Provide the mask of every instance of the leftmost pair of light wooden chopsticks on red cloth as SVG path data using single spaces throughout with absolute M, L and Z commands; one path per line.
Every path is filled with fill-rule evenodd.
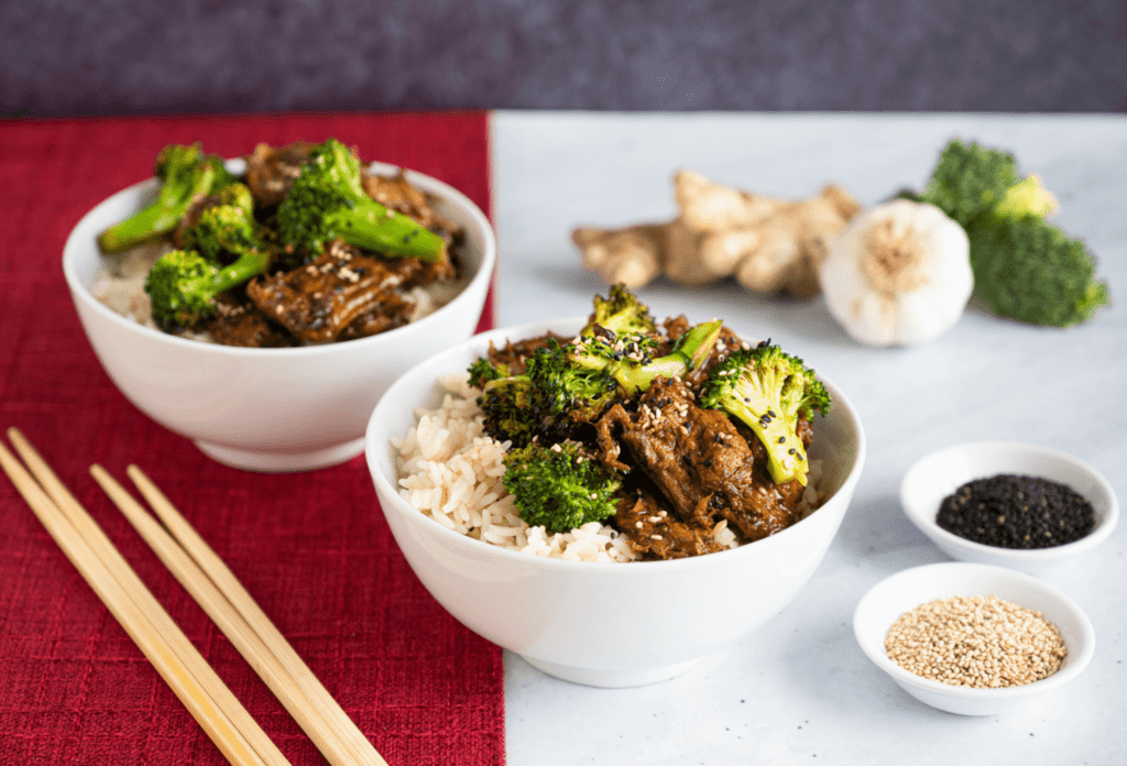
M 228 761 L 289 764 L 30 443 L 8 436 L 35 478 L 0 443 L 5 473 Z

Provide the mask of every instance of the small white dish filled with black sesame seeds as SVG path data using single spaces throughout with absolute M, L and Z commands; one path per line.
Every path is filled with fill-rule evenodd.
M 928 455 L 904 475 L 900 504 L 949 556 L 1032 573 L 1090 551 L 1119 520 L 1115 490 L 1094 467 L 1013 442 Z

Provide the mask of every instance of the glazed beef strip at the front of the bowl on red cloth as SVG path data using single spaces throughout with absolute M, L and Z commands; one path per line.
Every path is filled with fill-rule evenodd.
M 414 258 L 372 258 L 334 241 L 307 266 L 256 277 L 247 284 L 247 296 L 302 340 L 328 342 L 373 312 L 383 318 L 373 326 L 383 330 L 406 324 L 415 305 L 398 288 L 421 279 L 427 269 L 418 264 Z

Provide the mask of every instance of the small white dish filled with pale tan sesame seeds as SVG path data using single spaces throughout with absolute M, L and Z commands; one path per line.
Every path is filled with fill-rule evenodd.
M 878 582 L 853 614 L 873 663 L 909 695 L 961 715 L 996 715 L 1079 676 L 1095 635 L 1056 588 L 1005 567 L 947 562 Z

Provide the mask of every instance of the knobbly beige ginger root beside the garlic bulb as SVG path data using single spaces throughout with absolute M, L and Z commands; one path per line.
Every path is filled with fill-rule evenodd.
M 629 288 L 660 275 L 685 285 L 734 276 L 758 293 L 809 297 L 819 290 L 818 268 L 834 238 L 861 210 L 840 186 L 788 201 L 721 186 L 692 170 L 674 177 L 674 190 L 681 214 L 672 221 L 573 231 L 584 268 Z

